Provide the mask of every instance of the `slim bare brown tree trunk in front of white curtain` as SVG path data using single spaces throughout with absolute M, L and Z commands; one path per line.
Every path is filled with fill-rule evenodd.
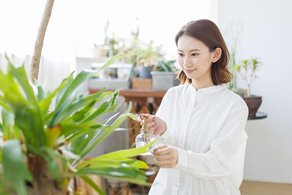
M 35 50 L 30 65 L 30 79 L 34 82 L 38 77 L 39 62 L 41 57 L 41 50 L 44 43 L 45 33 L 51 17 L 52 8 L 55 0 L 47 0 L 43 16 L 40 21 L 40 25 L 37 32 L 37 40 L 35 44 Z

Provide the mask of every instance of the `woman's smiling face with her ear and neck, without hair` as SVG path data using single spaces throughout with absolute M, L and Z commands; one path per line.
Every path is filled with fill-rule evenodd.
M 178 62 L 192 83 L 212 83 L 211 67 L 214 52 L 200 40 L 183 35 L 178 40 Z M 217 61 L 217 60 L 216 60 Z

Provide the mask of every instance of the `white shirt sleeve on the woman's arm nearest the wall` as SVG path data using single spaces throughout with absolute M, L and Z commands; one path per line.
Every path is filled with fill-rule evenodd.
M 239 146 L 246 143 L 244 128 L 247 116 L 246 105 L 232 110 L 225 118 L 218 135 L 211 142 L 210 150 L 206 153 L 195 153 L 177 148 L 179 157 L 174 169 L 207 179 L 230 176 L 236 156 L 244 156 L 245 151 L 239 150 Z

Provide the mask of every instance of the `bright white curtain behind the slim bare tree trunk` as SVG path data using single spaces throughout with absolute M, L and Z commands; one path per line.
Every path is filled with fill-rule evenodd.
M 29 73 L 31 56 L 37 38 L 46 0 L 0 1 L 0 68 L 6 72 L 7 61 L 19 67 L 25 64 Z M 46 89 L 54 90 L 75 70 L 74 1 L 55 0 L 47 27 L 38 80 L 48 76 Z

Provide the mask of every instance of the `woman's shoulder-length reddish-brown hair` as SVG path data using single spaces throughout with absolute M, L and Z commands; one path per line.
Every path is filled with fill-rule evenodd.
M 228 83 L 232 76 L 227 69 L 230 54 L 217 25 L 211 20 L 194 20 L 188 22 L 175 36 L 176 46 L 178 46 L 178 40 L 183 35 L 200 40 L 209 47 L 210 52 L 214 52 L 218 47 L 221 48 L 222 54 L 220 59 L 212 64 L 212 81 L 214 85 Z M 192 80 L 186 77 L 182 69 L 179 72 L 178 78 L 180 79 L 180 84 L 184 84 L 186 81 L 192 83 Z

